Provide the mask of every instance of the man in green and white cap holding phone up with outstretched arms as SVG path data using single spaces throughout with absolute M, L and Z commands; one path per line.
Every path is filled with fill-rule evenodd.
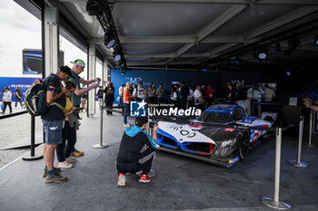
M 87 91 L 93 90 L 97 87 L 99 87 L 99 82 L 101 81 L 100 78 L 95 78 L 95 79 L 91 79 L 91 80 L 84 80 L 82 79 L 79 74 L 81 72 L 84 72 L 84 67 L 85 67 L 85 62 L 83 60 L 77 59 L 73 63 L 73 67 L 72 67 L 72 76 L 73 78 L 70 80 L 71 82 L 74 82 L 76 84 L 76 89 L 75 92 L 72 94 L 72 101 L 73 101 L 73 105 L 76 108 L 79 108 L 81 105 L 81 95 L 86 93 Z M 96 82 L 96 83 L 94 83 Z M 81 83 L 83 85 L 89 85 L 91 83 L 94 83 L 88 87 L 85 88 L 81 88 Z M 80 118 L 78 118 L 79 120 L 81 120 Z M 73 155 L 75 157 L 78 156 L 83 156 L 84 152 L 83 151 L 78 151 L 76 149 L 74 149 Z

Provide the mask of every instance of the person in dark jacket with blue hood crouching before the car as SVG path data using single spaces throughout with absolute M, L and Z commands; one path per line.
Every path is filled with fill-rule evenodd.
M 125 174 L 142 171 L 139 182 L 148 183 L 148 173 L 154 161 L 154 147 L 156 145 L 156 132 L 158 126 L 154 126 L 153 139 L 144 132 L 146 117 L 137 117 L 135 126 L 124 129 L 124 135 L 120 144 L 116 168 L 118 171 L 117 186 L 125 186 Z

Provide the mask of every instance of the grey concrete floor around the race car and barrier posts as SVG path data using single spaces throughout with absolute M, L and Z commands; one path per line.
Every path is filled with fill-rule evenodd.
M 77 149 L 84 151 L 75 168 L 63 170 L 64 184 L 45 184 L 44 159 L 19 159 L 0 171 L 0 210 L 273 210 L 262 197 L 273 197 L 274 139 L 264 139 L 245 160 L 221 168 L 191 158 L 158 151 L 150 184 L 127 176 L 126 187 L 116 187 L 114 160 L 123 134 L 123 117 L 104 115 L 106 149 L 99 142 L 99 117 L 82 120 Z M 317 144 L 317 137 L 313 143 Z M 307 143 L 307 140 L 304 139 Z M 291 210 L 318 210 L 318 148 L 303 147 L 308 168 L 288 160 L 297 155 L 297 138 L 283 136 L 280 199 Z M 36 152 L 42 153 L 42 146 Z

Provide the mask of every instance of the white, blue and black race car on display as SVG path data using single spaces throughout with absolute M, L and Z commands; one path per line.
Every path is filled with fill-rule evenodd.
M 166 117 L 158 121 L 159 149 L 231 167 L 246 158 L 249 150 L 266 134 L 266 130 L 227 128 L 241 125 L 270 128 L 277 113 L 264 112 L 262 118 L 246 117 L 238 105 L 218 104 L 209 107 L 198 118 Z M 221 124 L 215 127 L 200 123 Z

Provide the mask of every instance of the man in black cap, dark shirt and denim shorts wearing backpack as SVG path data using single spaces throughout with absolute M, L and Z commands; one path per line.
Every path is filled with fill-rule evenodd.
M 61 144 L 62 129 L 65 120 L 63 109 L 65 108 L 65 87 L 60 81 L 68 81 L 72 76 L 71 69 L 67 66 L 60 67 L 57 72 L 51 73 L 45 78 L 46 103 L 51 104 L 47 112 L 41 116 L 45 129 L 45 183 L 63 183 L 67 177 L 58 173 L 60 168 L 54 168 L 55 149 Z M 60 108 L 61 107 L 61 108 Z

